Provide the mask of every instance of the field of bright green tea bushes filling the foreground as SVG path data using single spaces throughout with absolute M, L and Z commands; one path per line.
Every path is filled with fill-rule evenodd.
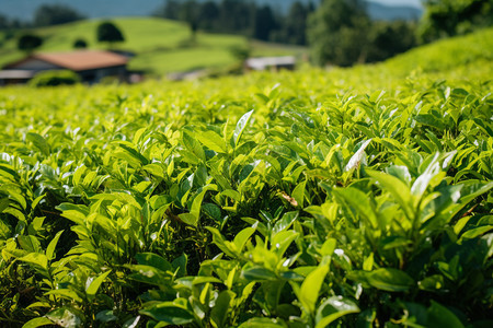
M 493 327 L 492 61 L 1 89 L 0 326 Z

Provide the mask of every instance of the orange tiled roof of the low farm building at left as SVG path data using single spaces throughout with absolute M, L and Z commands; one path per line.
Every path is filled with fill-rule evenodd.
M 103 50 L 39 52 L 33 55 L 32 58 L 44 60 L 73 71 L 122 66 L 128 62 L 128 58 L 125 56 Z

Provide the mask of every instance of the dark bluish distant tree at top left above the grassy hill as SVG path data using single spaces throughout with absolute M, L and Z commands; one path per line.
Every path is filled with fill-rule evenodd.
M 84 15 L 65 4 L 43 4 L 34 13 L 35 26 L 49 26 L 85 19 Z

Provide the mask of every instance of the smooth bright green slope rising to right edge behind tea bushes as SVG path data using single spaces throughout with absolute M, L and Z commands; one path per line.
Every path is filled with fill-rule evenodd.
M 457 36 L 411 49 L 383 62 L 334 69 L 348 79 L 358 74 L 358 89 L 391 87 L 395 81 L 428 80 L 472 81 L 493 75 L 493 28 Z M 402 82 L 404 83 L 404 82 Z M 353 87 L 356 87 L 353 86 Z

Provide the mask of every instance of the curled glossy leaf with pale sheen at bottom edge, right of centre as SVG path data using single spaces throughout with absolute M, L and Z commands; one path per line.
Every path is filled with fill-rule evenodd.
M 316 328 L 324 328 L 342 316 L 358 312 L 359 307 L 348 298 L 342 296 L 329 297 L 317 311 Z

